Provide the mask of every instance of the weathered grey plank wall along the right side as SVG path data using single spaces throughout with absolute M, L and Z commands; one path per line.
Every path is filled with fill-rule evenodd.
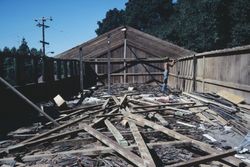
M 182 58 L 171 71 L 170 84 L 183 91 L 226 90 L 250 103 L 250 46 Z

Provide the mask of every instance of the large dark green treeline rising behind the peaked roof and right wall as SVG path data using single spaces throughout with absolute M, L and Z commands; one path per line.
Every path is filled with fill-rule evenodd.
M 203 52 L 250 44 L 250 1 L 129 0 L 124 10 L 109 10 L 97 24 L 97 35 L 128 25 Z

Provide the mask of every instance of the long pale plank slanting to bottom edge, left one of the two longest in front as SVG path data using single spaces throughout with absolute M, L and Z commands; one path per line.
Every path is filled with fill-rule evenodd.
M 95 138 L 100 140 L 102 143 L 104 143 L 107 146 L 109 146 L 110 148 L 114 149 L 117 153 L 122 155 L 124 158 L 126 158 L 130 162 L 134 163 L 136 166 L 144 166 L 143 160 L 139 156 L 137 156 L 136 154 L 130 152 L 128 149 L 125 149 L 125 148 L 121 147 L 118 143 L 111 140 L 110 138 L 108 138 L 104 134 L 102 134 L 99 131 L 93 129 L 91 126 L 89 126 L 87 124 L 82 124 L 81 127 L 86 132 L 88 132 L 89 134 L 91 134 L 92 136 L 94 136 Z

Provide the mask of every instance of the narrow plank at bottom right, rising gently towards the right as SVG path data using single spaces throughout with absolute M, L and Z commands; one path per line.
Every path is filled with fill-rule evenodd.
M 187 167 L 187 166 L 199 165 L 202 163 L 215 161 L 215 160 L 219 160 L 228 156 L 232 156 L 234 154 L 236 154 L 236 151 L 232 149 L 232 150 L 225 151 L 223 153 L 210 154 L 210 155 L 202 156 L 199 158 L 191 159 L 186 162 L 180 162 L 177 164 L 170 165 L 169 167 Z

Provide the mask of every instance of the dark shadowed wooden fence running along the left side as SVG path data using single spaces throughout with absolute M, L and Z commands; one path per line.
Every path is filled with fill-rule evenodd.
M 0 57 L 0 76 L 14 86 L 51 83 L 77 75 L 78 60 L 30 55 Z

